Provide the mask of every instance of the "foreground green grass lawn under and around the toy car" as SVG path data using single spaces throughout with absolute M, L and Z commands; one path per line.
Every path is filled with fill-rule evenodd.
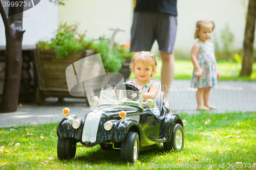
M 119 152 L 102 151 L 98 145 L 77 148 L 73 160 L 58 160 L 57 123 L 1 129 L 0 169 L 163 169 L 175 165 L 184 169 L 252 169 L 256 165 L 256 112 L 201 112 L 181 117 L 188 122 L 183 151 L 164 152 L 159 144 L 155 150 L 140 152 L 136 164 L 121 162 Z M 205 125 L 207 119 L 210 124 Z

